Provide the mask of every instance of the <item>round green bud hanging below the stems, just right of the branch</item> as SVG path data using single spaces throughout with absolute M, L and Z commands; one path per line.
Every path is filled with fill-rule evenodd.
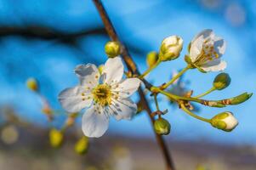
M 170 133 L 171 125 L 166 119 L 159 118 L 154 122 L 154 128 L 156 133 L 167 135 Z

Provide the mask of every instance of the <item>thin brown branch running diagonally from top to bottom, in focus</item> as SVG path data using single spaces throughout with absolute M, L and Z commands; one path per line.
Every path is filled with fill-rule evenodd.
M 111 40 L 121 42 L 117 36 L 117 32 L 115 31 L 115 28 L 112 25 L 111 20 L 109 19 L 108 14 L 106 13 L 105 8 L 103 7 L 103 4 L 101 3 L 101 1 L 93 0 L 93 2 L 100 14 L 101 20 L 104 23 L 105 30 L 107 31 L 108 35 L 111 37 Z M 124 60 L 125 64 L 128 66 L 129 71 L 132 71 L 132 73 L 135 75 L 140 75 L 139 71 L 137 69 L 137 66 L 134 63 L 134 60 L 131 58 L 130 54 L 128 54 L 128 49 L 126 48 L 126 46 L 124 44 L 122 44 L 122 59 Z M 144 82 L 145 82 L 146 87 L 151 86 L 145 80 L 144 80 Z M 150 108 L 150 105 L 149 105 L 147 99 L 145 98 L 145 94 L 143 93 L 142 88 L 139 88 L 139 96 L 140 96 L 141 102 L 143 103 L 143 105 L 145 107 L 145 111 L 147 112 L 148 116 L 151 119 L 151 124 L 153 125 L 155 119 L 153 116 L 151 116 L 152 111 L 151 111 L 151 108 Z M 167 170 L 174 170 L 174 162 L 168 152 L 168 147 L 165 144 L 164 139 L 162 138 L 161 135 L 157 134 L 155 130 L 154 130 L 154 133 L 156 135 L 156 141 L 162 150 L 162 155 L 164 157 Z

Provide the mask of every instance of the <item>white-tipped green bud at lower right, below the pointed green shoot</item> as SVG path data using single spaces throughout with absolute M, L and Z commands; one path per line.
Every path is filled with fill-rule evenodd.
M 226 111 L 213 116 L 211 124 L 213 127 L 230 132 L 237 126 L 238 122 L 231 112 Z

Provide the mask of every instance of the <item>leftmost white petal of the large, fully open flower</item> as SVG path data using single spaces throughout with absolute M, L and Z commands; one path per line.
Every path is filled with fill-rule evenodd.
M 68 112 L 77 112 L 81 111 L 83 108 L 88 107 L 92 103 L 92 98 L 88 99 L 90 94 L 85 94 L 84 89 L 82 87 L 75 88 L 65 88 L 62 92 L 60 92 L 58 99 L 60 101 L 60 105 Z M 82 98 L 86 97 L 84 100 Z

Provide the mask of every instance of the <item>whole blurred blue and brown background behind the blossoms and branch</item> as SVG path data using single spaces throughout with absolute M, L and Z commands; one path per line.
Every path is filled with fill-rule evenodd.
M 183 37 L 185 48 L 181 57 L 160 65 L 148 77 L 150 82 L 160 85 L 174 71 L 184 68 L 183 56 L 191 39 L 199 31 L 211 28 L 227 42 L 225 71 L 232 81 L 229 88 L 205 99 L 225 99 L 243 92 L 255 94 L 256 1 L 103 3 L 140 71 L 147 68 L 146 54 L 157 51 L 164 37 Z M 67 119 L 58 103 L 58 94 L 77 84 L 73 73 L 76 65 L 105 62 L 107 41 L 109 37 L 90 0 L 0 0 L 1 170 L 163 169 L 162 155 L 144 112 L 131 122 L 111 120 L 102 138 L 89 139 L 89 148 L 82 156 L 73 149 L 82 138 L 78 116 L 75 125 L 66 130 L 64 144 L 59 149 L 51 147 L 49 129 L 60 129 Z M 188 71 L 170 90 L 193 89 L 194 94 L 201 94 L 211 88 L 217 74 Z M 29 77 L 40 82 L 40 95 L 26 88 Z M 134 95 L 136 99 L 138 96 Z M 209 118 L 232 111 L 240 124 L 231 133 L 225 133 L 185 115 L 162 98 L 161 108 L 168 109 L 165 117 L 172 125 L 172 132 L 165 139 L 177 169 L 256 169 L 255 103 L 253 96 L 242 105 L 225 109 L 196 106 L 198 114 Z M 47 106 L 54 111 L 53 122 L 48 122 Z M 153 103 L 151 106 L 154 109 Z

